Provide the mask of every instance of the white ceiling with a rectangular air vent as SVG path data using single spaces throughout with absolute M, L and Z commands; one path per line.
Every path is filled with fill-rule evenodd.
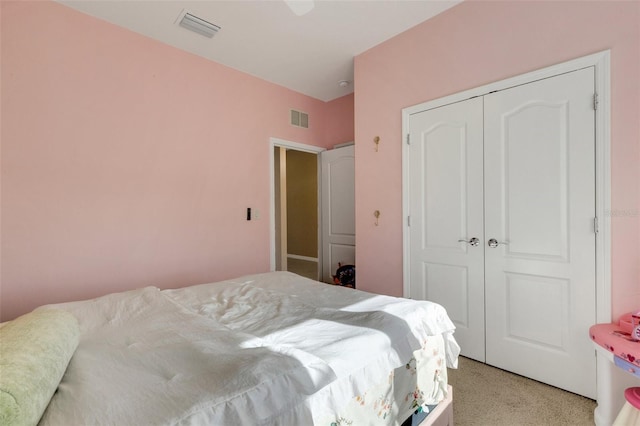
M 311 97 L 353 91 L 354 56 L 461 0 L 316 0 L 297 16 L 283 0 L 57 0 L 171 46 Z M 186 10 L 222 29 L 213 38 L 177 24 Z

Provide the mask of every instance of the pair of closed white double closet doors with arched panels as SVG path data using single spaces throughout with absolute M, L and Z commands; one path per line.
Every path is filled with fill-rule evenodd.
M 463 355 L 591 398 L 593 95 L 591 67 L 415 113 L 408 148 L 409 296 Z

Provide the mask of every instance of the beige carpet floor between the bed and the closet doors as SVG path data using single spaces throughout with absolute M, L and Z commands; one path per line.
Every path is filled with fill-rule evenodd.
M 456 426 L 594 424 L 591 399 L 468 358 L 448 374 Z

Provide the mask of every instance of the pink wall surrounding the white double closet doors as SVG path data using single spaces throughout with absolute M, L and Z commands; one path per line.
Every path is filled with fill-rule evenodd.
M 605 49 L 613 314 L 640 308 L 639 2 L 464 2 L 356 57 L 358 287 L 402 294 L 402 108 Z

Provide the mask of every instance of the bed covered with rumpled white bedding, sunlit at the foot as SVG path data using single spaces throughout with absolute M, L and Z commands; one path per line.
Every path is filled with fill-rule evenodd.
M 289 272 L 32 314 L 54 312 L 77 320 L 77 343 L 41 425 L 399 425 L 450 400 L 459 353 L 440 305 Z

